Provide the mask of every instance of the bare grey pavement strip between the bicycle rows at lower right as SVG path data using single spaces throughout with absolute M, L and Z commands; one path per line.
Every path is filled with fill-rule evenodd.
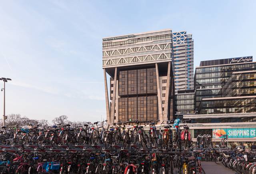
M 236 174 L 233 170 L 215 162 L 201 161 L 201 165 L 206 174 Z

